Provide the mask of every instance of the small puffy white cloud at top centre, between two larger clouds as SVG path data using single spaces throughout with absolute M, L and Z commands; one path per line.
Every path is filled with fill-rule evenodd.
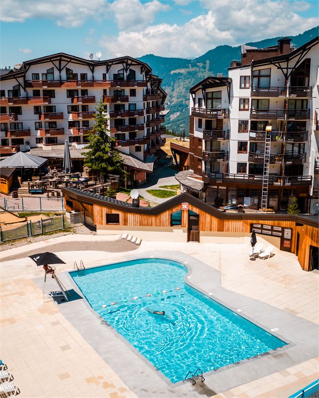
M 124 31 L 140 31 L 152 24 L 157 13 L 170 9 L 158 0 L 143 4 L 140 0 L 115 0 L 110 7 L 119 29 Z

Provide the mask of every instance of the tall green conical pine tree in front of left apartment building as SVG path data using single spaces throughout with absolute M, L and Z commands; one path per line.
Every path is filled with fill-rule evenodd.
M 104 181 L 109 174 L 125 177 L 123 160 L 120 152 L 115 148 L 116 139 L 111 138 L 107 128 L 108 119 L 104 115 L 102 100 L 95 107 L 95 123 L 88 135 L 88 149 L 84 154 L 84 164 L 96 173 L 99 181 Z

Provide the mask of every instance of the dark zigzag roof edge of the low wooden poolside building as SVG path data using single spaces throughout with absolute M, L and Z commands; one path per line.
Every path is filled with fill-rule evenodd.
M 183 202 L 187 202 L 199 210 L 210 214 L 220 220 L 254 220 L 254 221 L 291 221 L 291 222 L 299 222 L 311 227 L 318 228 L 317 221 L 314 222 L 312 217 L 310 216 L 293 216 L 289 214 L 239 214 L 239 213 L 223 213 L 220 210 L 213 208 L 207 203 L 197 199 L 197 197 L 192 196 L 186 192 L 181 193 L 180 195 L 176 195 L 172 197 L 170 200 L 161 203 L 160 205 L 155 206 L 154 208 L 135 208 L 131 204 L 127 202 L 117 201 L 116 199 L 98 195 L 96 193 L 90 193 L 87 191 L 83 191 L 77 188 L 67 188 L 62 187 L 62 192 L 74 198 L 74 200 L 82 203 L 95 203 L 100 206 L 108 206 L 113 209 L 122 210 L 124 212 L 130 212 L 135 214 L 148 214 L 158 216 L 159 214 L 176 207 L 177 205 L 181 205 Z M 298 221 L 299 218 L 299 221 Z

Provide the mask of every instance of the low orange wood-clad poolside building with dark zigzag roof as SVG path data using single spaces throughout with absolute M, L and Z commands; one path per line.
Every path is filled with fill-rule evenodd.
M 230 242 L 254 230 L 280 250 L 295 253 L 301 268 L 317 268 L 318 222 L 315 216 L 228 214 L 182 193 L 154 208 L 137 208 L 113 198 L 62 188 L 68 211 L 85 211 L 100 233 L 130 232 L 143 239 Z M 157 234 L 157 238 L 155 237 Z M 173 235 L 174 234 L 174 235 Z

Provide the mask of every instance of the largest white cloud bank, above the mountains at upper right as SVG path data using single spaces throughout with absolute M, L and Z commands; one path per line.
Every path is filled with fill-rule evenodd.
M 182 26 L 160 24 L 144 30 L 123 30 L 103 36 L 105 58 L 156 54 L 163 57 L 193 57 L 223 44 L 232 46 L 270 37 L 296 35 L 315 25 L 316 18 L 303 18 L 293 10 L 304 1 L 201 0 L 207 14 Z M 133 24 L 132 24 L 133 25 Z

